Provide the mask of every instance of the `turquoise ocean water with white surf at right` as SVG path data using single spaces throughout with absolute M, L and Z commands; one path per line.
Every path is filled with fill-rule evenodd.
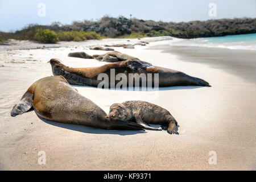
M 228 35 L 213 38 L 185 39 L 171 46 L 199 46 L 256 50 L 256 34 Z

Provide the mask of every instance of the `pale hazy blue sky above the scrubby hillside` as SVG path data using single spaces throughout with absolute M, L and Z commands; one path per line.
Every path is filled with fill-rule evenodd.
M 43 6 L 45 5 L 45 9 Z M 214 7 L 210 6 L 214 3 Z M 216 5 L 216 6 L 215 6 Z M 44 11 L 45 10 L 45 11 Z M 215 14 L 210 14 L 209 11 Z M 221 18 L 256 18 L 255 0 L 0 0 L 0 31 L 16 31 L 31 23 L 70 24 L 104 15 L 164 22 Z M 45 15 L 45 16 L 44 16 Z M 213 16 L 214 15 L 214 16 Z M 216 16 L 215 16 L 216 15 Z

